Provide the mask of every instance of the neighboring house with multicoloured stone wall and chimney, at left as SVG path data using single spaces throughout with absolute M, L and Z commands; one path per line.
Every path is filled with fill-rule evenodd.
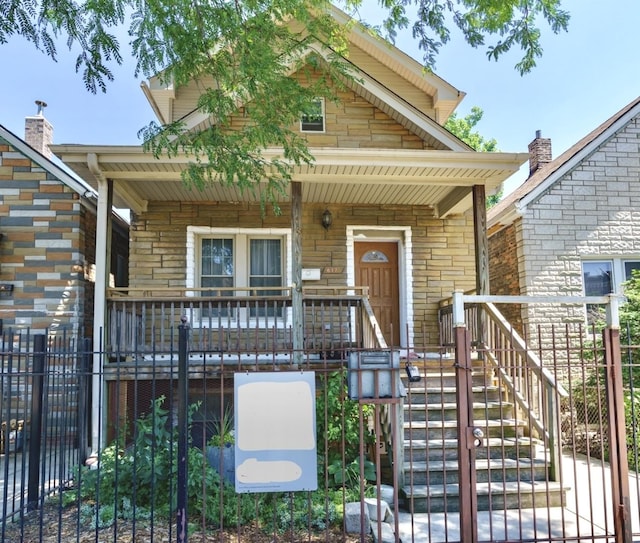
M 53 130 L 37 104 L 25 140 L 0 125 L 0 321 L 91 337 L 96 194 L 53 161 Z M 128 224 L 113 224 L 110 272 L 126 284 Z

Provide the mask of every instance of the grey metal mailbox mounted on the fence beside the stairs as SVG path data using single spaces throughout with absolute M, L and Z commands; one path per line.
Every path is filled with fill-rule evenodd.
M 352 400 L 402 396 L 400 353 L 398 351 L 350 353 L 348 389 L 349 398 Z

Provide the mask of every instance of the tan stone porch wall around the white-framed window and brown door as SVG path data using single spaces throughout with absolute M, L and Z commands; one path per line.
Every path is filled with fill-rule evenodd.
M 331 205 L 333 224 L 325 230 L 321 226 L 325 208 L 303 207 L 303 266 L 323 271 L 321 280 L 309 285 L 346 285 L 347 267 L 352 264 L 347 262 L 348 225 L 411 227 L 416 344 L 436 345 L 438 303 L 456 289 L 475 285 L 471 215 L 441 220 L 428 207 Z M 289 228 L 290 220 L 288 205 L 282 206 L 280 216 L 268 209 L 262 217 L 258 204 L 150 202 L 148 211 L 132 221 L 130 286 L 185 286 L 187 226 Z

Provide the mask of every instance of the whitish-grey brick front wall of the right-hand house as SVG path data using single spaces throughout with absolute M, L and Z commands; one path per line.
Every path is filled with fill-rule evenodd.
M 639 258 L 640 120 L 529 204 L 518 226 L 526 295 L 579 296 L 582 259 Z M 582 306 L 530 306 L 524 318 L 544 341 L 549 323 L 583 323 L 585 313 Z

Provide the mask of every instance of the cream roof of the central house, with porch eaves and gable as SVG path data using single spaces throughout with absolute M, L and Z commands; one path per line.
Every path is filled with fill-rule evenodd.
M 334 10 L 338 21 L 349 18 Z M 347 59 L 356 77 L 351 90 L 383 111 L 429 149 L 310 146 L 312 165 L 294 167 L 292 179 L 302 183 L 302 200 L 309 203 L 422 205 L 437 216 L 463 213 L 471 208 L 474 185 L 487 194 L 526 161 L 526 153 L 479 153 L 442 125 L 464 97 L 452 85 L 424 70 L 423 66 L 359 25 L 349 25 L 353 49 Z M 315 53 L 322 50 L 318 44 Z M 161 122 L 181 118 L 187 129 L 208 123 L 195 110 L 197 85 L 174 89 L 151 79 L 143 86 Z M 181 99 L 181 94 L 184 97 Z M 255 201 L 251 191 L 213 183 L 203 190 L 186 187 L 181 172 L 192 157 L 155 157 L 140 146 L 56 145 L 60 156 L 92 186 L 99 178 L 114 181 L 114 204 L 136 213 L 150 201 Z M 282 149 L 270 148 L 262 156 L 282 157 Z M 260 191 L 260 187 L 257 187 Z M 282 195 L 282 201 L 288 199 Z

